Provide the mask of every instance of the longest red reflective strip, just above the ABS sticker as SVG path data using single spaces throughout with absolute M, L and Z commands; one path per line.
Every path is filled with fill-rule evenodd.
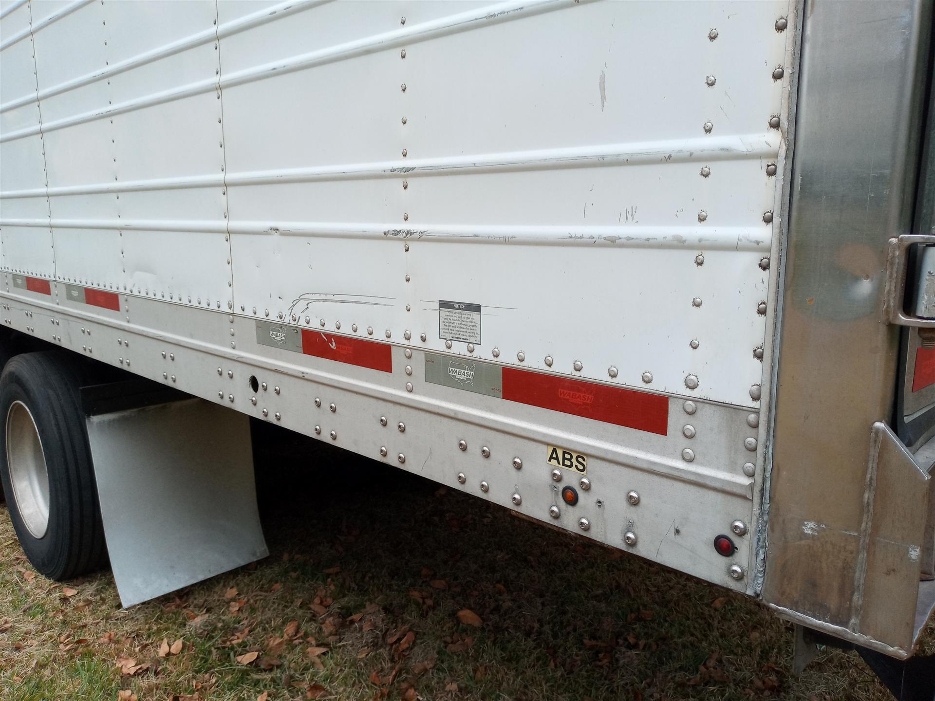
M 669 433 L 669 397 L 662 394 L 558 378 L 513 367 L 503 368 L 502 384 L 503 398 L 511 402 L 615 423 L 659 436 Z

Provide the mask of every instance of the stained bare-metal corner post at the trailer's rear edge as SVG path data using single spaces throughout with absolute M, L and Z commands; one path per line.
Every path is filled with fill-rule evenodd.
M 807 2 L 803 17 L 762 595 L 787 618 L 903 657 L 913 636 L 886 621 L 909 604 L 887 594 L 870 537 L 872 515 L 901 505 L 874 494 L 871 427 L 894 406 L 886 249 L 912 225 L 932 9 Z

